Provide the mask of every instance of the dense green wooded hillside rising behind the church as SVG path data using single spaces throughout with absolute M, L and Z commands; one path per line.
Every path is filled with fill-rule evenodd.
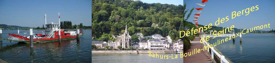
M 131 0 L 94 0 L 92 2 L 92 36 L 97 40 L 109 40 L 109 35 L 124 32 L 125 25 L 129 35 L 142 33 L 144 36 L 160 34 L 178 40 L 180 27 L 193 26 L 186 23 L 194 8 L 186 10 L 184 5 L 143 3 Z M 189 13 L 187 13 L 189 11 Z M 187 16 L 185 16 L 187 15 Z M 158 26 L 157 26 L 158 25 Z M 104 34 L 105 33 L 105 34 Z M 102 38 L 105 37 L 105 38 Z

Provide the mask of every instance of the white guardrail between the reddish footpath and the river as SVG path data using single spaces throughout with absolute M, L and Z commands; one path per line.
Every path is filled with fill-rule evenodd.
M 205 45 L 205 47 L 210 46 L 206 41 L 203 42 L 203 44 Z M 207 47 L 207 52 L 209 52 L 209 47 Z M 214 59 L 214 53 L 217 54 L 217 56 L 220 58 L 220 62 L 221 63 L 229 63 L 225 57 L 221 54 L 219 54 L 214 47 L 211 48 L 211 58 Z

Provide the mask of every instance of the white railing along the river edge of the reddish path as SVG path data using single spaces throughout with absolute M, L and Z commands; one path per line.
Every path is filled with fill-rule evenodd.
M 202 41 L 204 41 L 204 40 L 202 40 Z M 210 46 L 210 44 L 208 43 L 208 42 L 206 42 L 206 41 L 204 41 L 203 42 L 203 44 L 205 45 L 205 47 L 207 48 L 207 52 L 209 52 L 210 54 L 211 54 L 211 58 L 212 59 L 214 59 L 214 57 L 216 57 L 215 56 L 215 54 L 217 55 L 217 57 L 216 58 L 219 58 L 220 60 L 215 60 L 217 63 L 218 62 L 221 62 L 221 63 L 230 63 L 229 61 L 230 60 L 227 60 L 227 59 L 225 59 L 225 56 L 223 56 L 222 54 L 219 54 L 217 51 L 216 51 L 216 49 L 214 49 L 214 47 L 212 47 L 211 49 L 209 49 L 209 46 Z

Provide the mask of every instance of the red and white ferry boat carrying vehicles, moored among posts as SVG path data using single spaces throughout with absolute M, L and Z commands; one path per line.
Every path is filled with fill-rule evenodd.
M 58 38 L 58 31 L 60 30 L 60 40 L 67 40 L 67 39 L 74 39 L 76 38 L 76 31 L 64 31 L 64 29 L 60 29 L 60 14 L 59 15 L 59 24 L 57 23 L 48 23 L 46 20 L 46 14 L 45 14 L 45 25 L 46 28 L 42 31 L 42 34 L 35 34 L 33 42 L 48 42 L 48 41 L 56 41 L 59 40 Z M 77 27 L 78 28 L 78 27 Z M 79 32 L 79 36 L 84 35 L 82 31 Z M 30 43 L 30 36 L 24 37 L 24 36 L 19 36 L 16 34 L 8 34 L 8 36 L 5 38 L 7 41 L 11 42 L 25 42 L 25 43 Z

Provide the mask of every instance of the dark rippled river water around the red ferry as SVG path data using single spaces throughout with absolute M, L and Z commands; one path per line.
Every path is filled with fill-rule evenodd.
M 17 30 L 2 30 L 3 38 Z M 23 32 L 24 31 L 24 32 Z M 41 34 L 42 30 L 34 30 L 33 33 Z M 9 63 L 77 63 L 92 62 L 91 60 L 91 31 L 80 30 L 85 35 L 80 36 L 80 42 L 75 39 L 35 43 L 34 48 L 30 44 L 9 42 L 3 40 L 0 46 L 0 58 Z M 20 36 L 29 36 L 29 30 L 20 30 Z

